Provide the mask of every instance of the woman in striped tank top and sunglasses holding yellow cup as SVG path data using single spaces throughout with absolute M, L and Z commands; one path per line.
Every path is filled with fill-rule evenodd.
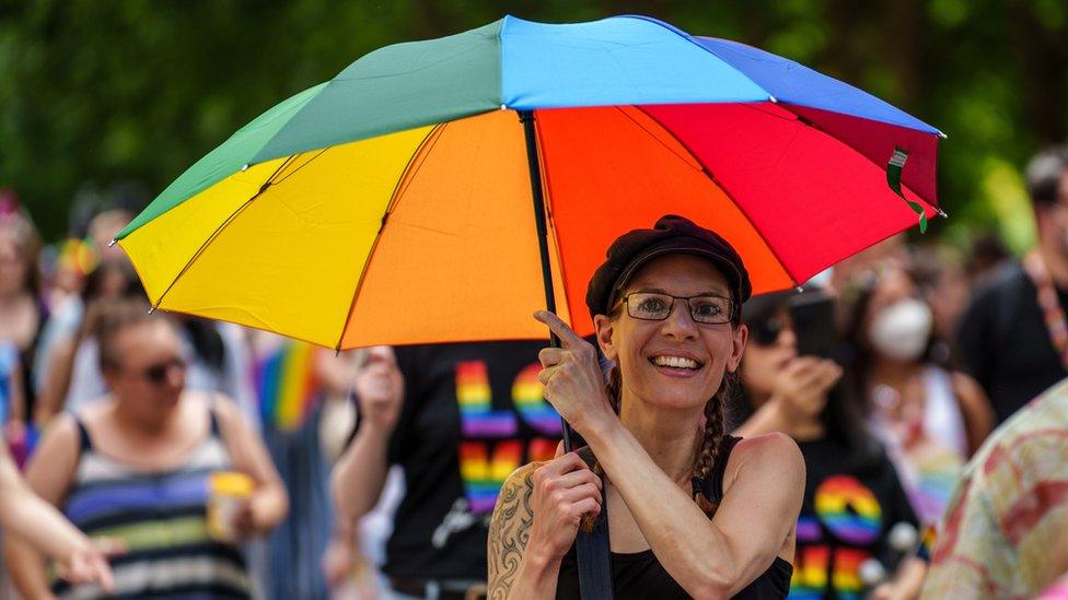
M 251 597 L 237 544 L 270 530 L 288 503 L 262 439 L 232 400 L 186 389 L 172 319 L 130 299 L 100 310 L 109 392 L 56 416 L 27 468 L 31 487 L 90 537 L 126 545 L 113 565 L 119 596 Z M 18 539 L 8 541 L 8 565 L 24 597 L 103 597 L 49 585 L 40 557 Z

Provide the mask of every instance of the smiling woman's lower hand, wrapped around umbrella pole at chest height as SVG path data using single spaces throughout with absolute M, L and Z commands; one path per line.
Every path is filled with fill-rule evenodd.
M 593 473 L 577 452 L 562 454 L 535 469 L 532 475 L 530 549 L 549 560 L 561 558 L 574 542 L 584 514 L 601 513 L 601 478 Z

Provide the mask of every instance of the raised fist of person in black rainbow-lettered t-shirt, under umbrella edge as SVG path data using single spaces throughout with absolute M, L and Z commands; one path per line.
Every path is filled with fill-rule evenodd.
M 404 400 L 404 375 L 393 349 L 379 345 L 368 350 L 353 385 L 360 403 L 360 426 L 392 432 Z

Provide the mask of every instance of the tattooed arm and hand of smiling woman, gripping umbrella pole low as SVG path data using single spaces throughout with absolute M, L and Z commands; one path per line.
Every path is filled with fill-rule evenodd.
M 556 598 L 582 515 L 601 511 L 601 479 L 578 454 L 560 452 L 521 467 L 501 487 L 489 526 L 490 600 Z

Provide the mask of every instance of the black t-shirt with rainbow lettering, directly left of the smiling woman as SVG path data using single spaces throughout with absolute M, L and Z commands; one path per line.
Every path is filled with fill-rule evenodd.
M 390 462 L 406 493 L 386 545 L 395 578 L 486 578 L 486 538 L 504 480 L 549 460 L 560 417 L 542 397 L 545 340 L 396 349 L 405 401 Z

